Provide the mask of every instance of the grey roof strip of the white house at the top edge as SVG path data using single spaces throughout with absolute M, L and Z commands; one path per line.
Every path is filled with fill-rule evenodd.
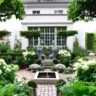
M 24 3 L 69 3 L 71 0 L 23 0 Z

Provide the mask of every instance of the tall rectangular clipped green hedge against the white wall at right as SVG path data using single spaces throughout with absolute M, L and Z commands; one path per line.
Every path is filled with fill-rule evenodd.
M 86 48 L 88 50 L 93 50 L 94 48 L 94 33 L 86 33 Z

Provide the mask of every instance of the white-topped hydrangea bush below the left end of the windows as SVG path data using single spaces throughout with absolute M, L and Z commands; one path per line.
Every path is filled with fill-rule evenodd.
M 36 60 L 36 53 L 34 51 L 23 52 L 24 62 L 26 64 L 32 64 Z

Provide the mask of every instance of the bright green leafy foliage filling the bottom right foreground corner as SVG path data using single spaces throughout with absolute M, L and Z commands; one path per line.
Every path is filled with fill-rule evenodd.
M 96 96 L 94 83 L 73 82 L 67 83 L 60 88 L 61 96 Z

